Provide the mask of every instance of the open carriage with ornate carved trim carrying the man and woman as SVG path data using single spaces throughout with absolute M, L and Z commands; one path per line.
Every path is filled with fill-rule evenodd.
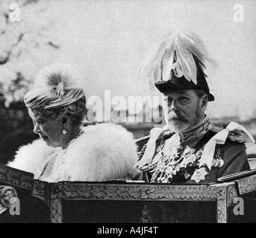
M 191 204 L 200 208 L 194 221 L 255 222 L 256 170 L 203 185 L 121 180 L 48 183 L 1 164 L 0 186 L 0 208 L 5 209 L 0 209 L 0 222 L 167 223 L 173 222 L 173 205 Z M 12 203 L 13 197 L 19 203 Z M 203 212 L 207 209 L 208 220 Z

